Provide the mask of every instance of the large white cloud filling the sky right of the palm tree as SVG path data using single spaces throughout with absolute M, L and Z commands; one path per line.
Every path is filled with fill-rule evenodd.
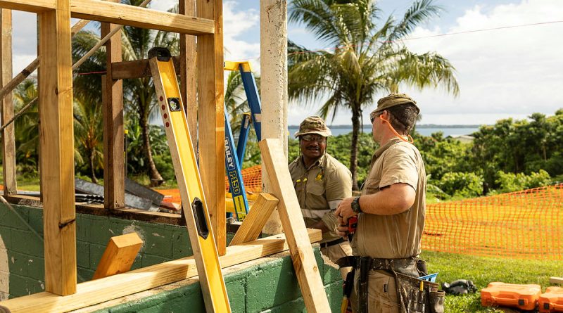
M 488 13 L 475 6 L 448 30 L 417 29 L 412 37 L 545 23 L 561 16 L 558 0 L 523 0 Z M 436 51 L 448 58 L 457 70 L 461 93 L 453 98 L 443 90 L 402 91 L 417 99 L 423 123 L 481 123 L 474 120 L 478 117 L 492 123 L 499 116 L 552 114 L 563 107 L 562 32 L 563 23 L 552 23 L 405 41 L 413 51 Z

